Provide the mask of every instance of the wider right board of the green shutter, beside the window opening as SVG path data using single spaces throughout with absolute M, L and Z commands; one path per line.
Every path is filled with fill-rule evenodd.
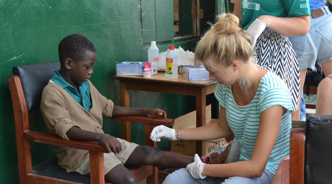
M 155 0 L 155 12 L 156 41 L 161 42 L 173 40 L 173 1 Z

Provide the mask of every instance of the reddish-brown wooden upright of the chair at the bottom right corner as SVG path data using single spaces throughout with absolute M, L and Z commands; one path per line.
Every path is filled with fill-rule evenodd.
M 304 129 L 293 128 L 290 132 L 290 183 L 304 182 Z

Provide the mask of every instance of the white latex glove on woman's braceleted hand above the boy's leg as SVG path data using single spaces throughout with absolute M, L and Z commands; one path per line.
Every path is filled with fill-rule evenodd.
M 150 139 L 154 142 L 159 142 L 161 138 L 176 141 L 175 129 L 168 128 L 164 125 L 154 127 L 150 134 Z

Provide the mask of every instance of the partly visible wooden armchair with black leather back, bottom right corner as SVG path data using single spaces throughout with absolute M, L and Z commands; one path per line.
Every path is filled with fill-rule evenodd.
M 283 161 L 282 184 L 332 182 L 332 115 L 307 115 L 304 129 L 290 133 L 290 159 Z

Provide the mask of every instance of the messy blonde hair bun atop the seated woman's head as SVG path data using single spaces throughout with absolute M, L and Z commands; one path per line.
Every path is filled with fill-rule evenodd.
M 214 31 L 219 34 L 234 34 L 241 28 L 239 27 L 239 19 L 230 13 L 220 14 L 214 25 Z

